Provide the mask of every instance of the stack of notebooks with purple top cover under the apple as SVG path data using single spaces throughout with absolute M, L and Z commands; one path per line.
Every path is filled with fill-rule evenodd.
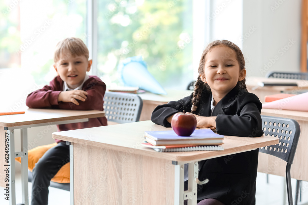
M 158 152 L 223 150 L 223 135 L 210 129 L 198 129 L 188 137 L 178 136 L 173 130 L 145 132 L 145 147 Z

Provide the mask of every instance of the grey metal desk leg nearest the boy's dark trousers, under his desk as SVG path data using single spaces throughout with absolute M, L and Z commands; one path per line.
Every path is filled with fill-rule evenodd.
M 28 195 L 28 134 L 27 128 L 20 130 L 20 152 L 21 152 L 21 187 L 22 187 L 22 204 L 29 204 Z M 16 154 L 18 155 L 18 154 Z M 15 155 L 15 157 L 17 157 Z

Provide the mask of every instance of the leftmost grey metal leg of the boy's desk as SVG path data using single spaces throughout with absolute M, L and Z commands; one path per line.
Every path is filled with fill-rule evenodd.
M 10 205 L 16 204 L 16 189 L 15 189 L 15 140 L 14 140 L 14 130 L 6 131 L 10 136 L 10 175 L 9 175 L 9 194 L 10 194 Z

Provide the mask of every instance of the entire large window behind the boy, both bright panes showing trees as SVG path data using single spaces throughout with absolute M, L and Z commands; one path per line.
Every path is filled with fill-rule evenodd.
M 97 67 L 91 74 L 107 86 L 120 85 L 119 63 L 141 55 L 164 88 L 185 89 L 194 79 L 192 1 L 97 3 L 98 31 L 93 34 L 98 36 Z M 18 67 L 30 73 L 36 84 L 48 84 L 56 75 L 52 66 L 56 43 L 71 36 L 88 43 L 93 37 L 87 32 L 91 13 L 87 0 L 1 1 L 0 69 Z

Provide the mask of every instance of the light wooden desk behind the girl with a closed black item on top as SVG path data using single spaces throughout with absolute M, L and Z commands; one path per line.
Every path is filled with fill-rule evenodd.
M 258 86 L 258 82 L 290 82 L 297 83 L 298 86 Z M 298 94 L 303 90 L 308 90 L 308 81 L 305 80 L 293 80 L 293 79 L 281 79 L 281 78 L 266 78 L 266 77 L 246 77 L 246 86 L 249 93 L 256 94 L 260 101 L 265 102 L 266 95 L 274 95 L 281 92 Z

